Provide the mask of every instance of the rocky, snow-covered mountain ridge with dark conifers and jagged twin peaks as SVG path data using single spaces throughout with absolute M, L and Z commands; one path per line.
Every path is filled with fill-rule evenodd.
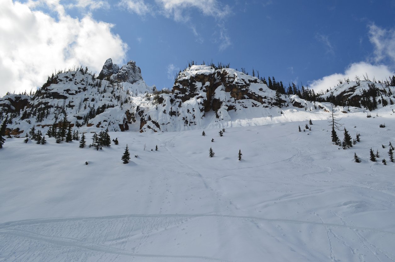
M 189 65 L 171 90 L 148 86 L 134 61 L 119 68 L 107 59 L 98 76 L 88 68 L 57 72 L 34 93 L 0 99 L 5 135 L 23 137 L 32 126 L 42 133 L 64 121 L 79 132 L 166 132 L 323 119 L 331 102 L 339 112 L 393 104 L 395 77 L 378 82 L 346 81 L 327 93 L 229 66 Z M 354 110 L 354 111 L 355 111 Z M 329 117 L 329 113 L 328 113 Z

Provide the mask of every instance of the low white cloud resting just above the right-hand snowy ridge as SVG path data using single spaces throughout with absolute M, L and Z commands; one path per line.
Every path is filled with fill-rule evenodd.
M 386 65 L 371 65 L 366 62 L 353 63 L 348 66 L 344 73 L 331 74 L 329 76 L 324 76 L 321 79 L 311 81 L 309 87 L 315 91 L 326 91 L 335 87 L 339 82 L 338 79 L 349 78 L 351 81 L 355 81 L 355 76 L 359 76 L 363 80 L 362 75 L 368 75 L 370 80 L 375 78 L 376 80 L 385 80 L 389 76 L 393 75 L 393 70 L 391 70 Z

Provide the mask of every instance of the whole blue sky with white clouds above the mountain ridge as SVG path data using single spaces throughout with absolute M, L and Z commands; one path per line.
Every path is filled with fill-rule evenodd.
M 158 89 L 171 88 L 175 73 L 191 60 L 230 63 L 250 74 L 254 68 L 266 78 L 316 89 L 356 74 L 380 80 L 395 69 L 394 0 L 0 0 L 0 9 L 8 19 L 0 34 L 18 40 L 16 48 L 0 40 L 1 77 L 9 75 L 2 68 L 21 67 L 28 50 L 37 50 L 28 65 L 10 73 L 7 86 L 17 82 L 16 89 L 39 85 L 53 68 L 100 70 L 108 57 L 119 65 L 136 61 L 147 84 Z M 26 34 L 32 36 L 21 37 Z M 11 57 L 6 50 L 12 48 Z

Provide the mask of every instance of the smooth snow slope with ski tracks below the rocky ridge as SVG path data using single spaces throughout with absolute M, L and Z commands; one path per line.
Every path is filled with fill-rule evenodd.
M 226 127 L 223 137 L 220 127 L 112 132 L 119 145 L 98 151 L 7 139 L 0 261 L 393 262 L 395 114 L 372 116 L 342 114 L 361 134 L 346 150 L 331 143 L 327 120 L 311 131 L 308 121 Z

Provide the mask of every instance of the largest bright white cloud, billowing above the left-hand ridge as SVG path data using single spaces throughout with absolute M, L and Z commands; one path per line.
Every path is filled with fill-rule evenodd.
M 56 19 L 34 10 L 47 4 Z M 123 63 L 127 45 L 111 32 L 113 25 L 66 14 L 58 0 L 28 1 L 26 4 L 3 0 L 0 4 L 0 93 L 18 93 L 41 86 L 56 69 L 88 66 L 101 70 L 111 57 Z

